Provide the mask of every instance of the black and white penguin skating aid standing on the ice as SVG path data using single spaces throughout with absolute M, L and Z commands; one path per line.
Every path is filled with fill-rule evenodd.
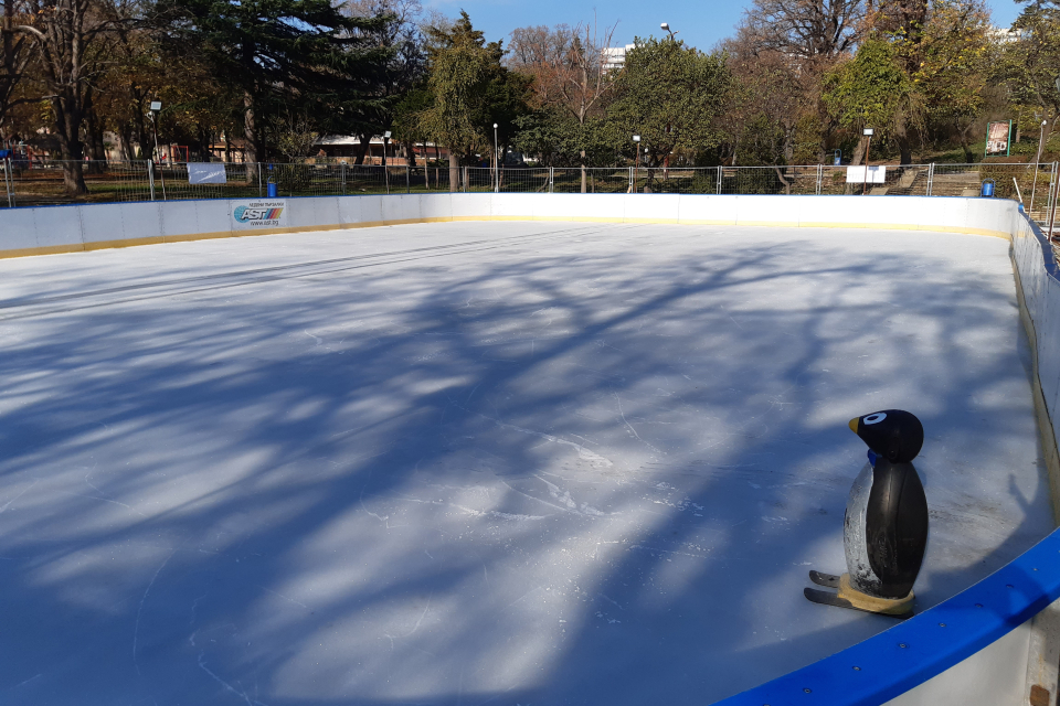
M 806 589 L 806 597 L 844 608 L 909 617 L 913 582 L 928 546 L 928 499 L 912 460 L 924 443 L 914 415 L 884 409 L 849 422 L 869 447 L 847 500 L 842 548 L 847 574 L 810 571 L 818 585 L 837 593 Z

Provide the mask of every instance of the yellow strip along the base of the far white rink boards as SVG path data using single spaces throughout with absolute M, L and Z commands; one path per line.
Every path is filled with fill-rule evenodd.
M 215 238 L 251 237 L 256 235 L 279 235 L 285 233 L 315 233 L 324 231 L 347 231 L 352 228 L 374 228 L 393 225 L 414 225 L 423 223 L 453 223 L 470 221 L 541 221 L 568 223 L 630 223 L 640 225 L 725 225 L 746 227 L 774 228 L 846 228 L 873 231 L 934 231 L 936 233 L 961 233 L 966 235 L 985 235 L 1011 240 L 1011 235 L 1004 231 L 986 228 L 964 228 L 947 225 L 914 225 L 914 224 L 883 224 L 883 223 L 828 223 L 828 222 L 798 222 L 798 221 L 736 221 L 736 220 L 699 220 L 699 218 L 634 218 L 625 216 L 435 216 L 428 218 L 396 218 L 392 221 L 363 221 L 360 223 L 338 223 L 332 225 L 307 225 L 284 228 L 253 228 L 247 231 L 213 231 L 209 233 L 187 233 L 180 235 L 162 235 L 146 238 L 124 238 L 118 240 L 94 240 L 71 245 L 52 245 L 44 247 L 15 248 L 0 250 L 0 259 L 12 257 L 32 257 L 36 255 L 61 255 L 81 253 L 85 250 L 105 250 L 119 247 L 136 247 L 140 245 L 160 245 L 162 243 L 190 243 Z

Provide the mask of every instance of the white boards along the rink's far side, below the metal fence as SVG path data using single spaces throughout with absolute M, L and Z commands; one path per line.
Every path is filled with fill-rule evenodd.
M 944 196 L 685 194 L 400 194 L 305 196 L 287 224 L 239 229 L 234 200 L 150 201 L 4 211 L 0 257 L 53 255 L 208 238 L 451 221 L 575 221 L 935 231 L 1011 237 L 1017 204 Z

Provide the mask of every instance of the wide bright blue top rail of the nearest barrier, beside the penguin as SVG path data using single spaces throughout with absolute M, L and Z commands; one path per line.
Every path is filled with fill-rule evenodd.
M 716 706 L 878 706 L 996 642 L 1057 598 L 1060 530 L 934 608 Z

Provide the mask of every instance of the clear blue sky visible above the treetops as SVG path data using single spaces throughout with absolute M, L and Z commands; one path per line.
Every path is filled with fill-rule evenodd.
M 467 10 L 476 28 L 486 32 L 489 40 L 508 39 L 508 33 L 518 26 L 531 24 L 553 25 L 561 22 L 576 24 L 592 21 L 595 12 L 601 24 L 614 24 L 614 44 L 628 44 L 636 35 L 659 36 L 660 22 L 669 22 L 670 28 L 679 30 L 679 39 L 709 50 L 716 42 L 733 34 L 733 28 L 740 21 L 743 9 L 751 4 L 746 1 L 723 0 L 425 0 L 426 7 L 447 15 L 456 15 Z M 994 13 L 994 23 L 1008 26 L 1019 10 L 1013 0 L 987 0 Z

